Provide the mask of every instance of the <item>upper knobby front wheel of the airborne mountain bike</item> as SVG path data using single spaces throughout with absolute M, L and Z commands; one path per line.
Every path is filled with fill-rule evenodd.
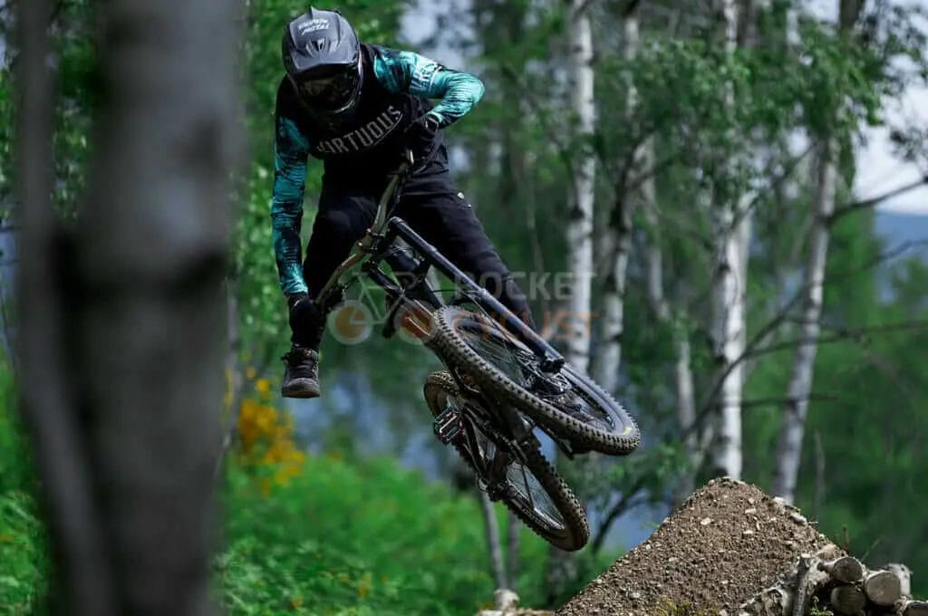
M 428 344 L 484 391 L 578 449 L 625 456 L 638 447 L 638 425 L 611 395 L 572 366 L 545 373 L 535 353 L 483 314 L 435 311 Z

